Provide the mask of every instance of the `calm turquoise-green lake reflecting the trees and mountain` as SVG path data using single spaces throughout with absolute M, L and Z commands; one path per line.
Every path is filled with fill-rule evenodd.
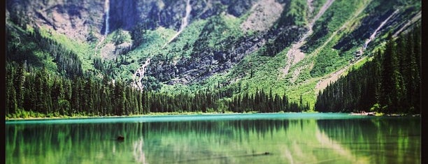
M 331 113 L 6 121 L 6 163 L 421 163 L 420 128 Z

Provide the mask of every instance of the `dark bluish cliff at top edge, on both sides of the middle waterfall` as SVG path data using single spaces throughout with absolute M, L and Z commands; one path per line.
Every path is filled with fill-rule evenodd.
M 113 29 L 131 29 L 139 22 L 145 24 L 148 29 L 156 29 L 159 26 L 175 29 L 178 31 L 181 26 L 181 20 L 185 16 L 187 0 L 180 1 L 120 1 L 111 0 L 112 6 L 110 14 Z M 245 1 L 190 1 L 192 13 L 189 20 L 206 19 L 221 12 L 227 12 L 239 17 L 246 13 L 257 0 Z M 224 7 L 227 7 L 224 10 Z

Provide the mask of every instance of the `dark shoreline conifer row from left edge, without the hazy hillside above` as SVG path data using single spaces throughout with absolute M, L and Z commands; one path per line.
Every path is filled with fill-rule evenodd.
M 301 112 L 308 105 L 264 90 L 231 95 L 203 89 L 176 94 L 139 91 L 109 77 L 64 77 L 24 62 L 6 63 L 6 117 L 110 116 L 150 112 Z

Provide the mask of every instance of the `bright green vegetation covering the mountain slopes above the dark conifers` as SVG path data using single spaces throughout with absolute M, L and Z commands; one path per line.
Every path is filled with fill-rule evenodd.
M 292 0 L 285 3 L 280 18 L 268 31 L 255 32 L 249 29 L 244 33 L 241 30 L 241 24 L 250 12 L 240 17 L 227 13 L 206 19 L 192 17 L 193 20 L 183 32 L 168 44 L 177 31 L 164 27 L 146 29 L 147 24 L 137 24 L 131 31 L 111 31 L 100 43 L 97 53 L 94 50 L 100 40 L 95 38 L 93 29 L 90 29 L 92 34 L 88 42 L 79 42 L 52 29 L 29 27 L 22 22 L 24 20 L 15 20 L 15 24 L 20 24 L 20 27 L 12 22 L 6 26 L 10 40 L 7 57 L 8 62 L 15 61 L 17 64 L 27 61 L 28 73 L 43 68 L 50 75 L 65 77 L 64 80 L 73 80 L 75 77 L 85 80 L 90 78 L 95 82 L 115 80 L 124 86 L 133 82 L 132 76 L 136 70 L 150 58 L 150 65 L 145 69 L 142 80 L 144 89 L 166 96 L 166 99 L 183 96 L 183 93 L 192 97 L 197 92 L 209 91 L 208 94 L 218 97 L 215 105 L 208 105 L 207 109 L 250 111 L 255 109 L 249 109 L 246 106 L 248 103 L 232 103 L 235 105 L 233 108 L 231 102 L 243 102 L 243 99 L 255 96 L 259 91 L 272 90 L 273 96 L 267 99 L 286 97 L 301 107 L 313 108 L 316 99 L 313 89 L 317 82 L 354 59 L 354 53 L 362 46 L 364 39 L 371 35 L 367 31 L 376 29 L 397 6 L 404 10 L 379 32 L 376 40 L 369 45 L 372 50 L 385 39 L 385 31 L 397 31 L 405 23 L 397 20 L 413 17 L 420 8 L 420 2 L 411 3 L 413 0 L 334 1 L 320 20 L 315 22 L 313 34 L 306 39 L 302 47 L 306 53 L 304 59 L 291 66 L 285 75 L 282 68 L 285 67 L 290 45 L 301 38 L 308 20 L 318 13 L 325 2 L 313 1 L 311 15 L 308 15 L 306 1 Z M 364 9 L 362 13 L 358 12 L 360 9 Z M 123 50 L 111 46 L 131 42 L 134 44 L 124 44 L 129 47 Z M 237 51 L 240 46 L 241 49 Z M 101 52 L 110 49 L 114 49 L 114 54 L 108 54 L 108 57 L 106 54 L 101 55 Z M 255 51 L 248 54 L 248 49 Z M 13 94 L 13 91 L 8 94 Z M 169 106 L 165 108 L 168 110 L 162 111 L 189 109 L 175 107 Z M 15 109 L 22 110 L 22 107 Z

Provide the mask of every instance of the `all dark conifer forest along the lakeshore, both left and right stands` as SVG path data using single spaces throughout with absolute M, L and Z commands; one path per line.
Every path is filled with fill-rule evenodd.
M 416 27 L 397 39 L 390 37 L 385 49 L 373 54 L 372 61 L 350 70 L 348 75 L 320 91 L 315 110 L 419 113 L 420 33 L 420 27 Z M 38 31 L 29 37 L 38 40 L 37 46 L 58 60 L 57 69 L 62 74 L 49 73 L 44 66 L 36 68 L 36 61 L 20 59 L 31 59 L 30 50 L 9 46 L 8 51 L 17 55 L 6 63 L 7 117 L 310 110 L 307 102 L 290 102 L 285 95 L 273 95 L 272 91 L 267 93 L 263 89 L 236 95 L 233 89 L 221 91 L 218 87 L 175 94 L 138 91 L 127 82 L 113 82 L 108 76 L 100 79 L 91 73 L 83 74 L 76 54 L 43 38 Z

